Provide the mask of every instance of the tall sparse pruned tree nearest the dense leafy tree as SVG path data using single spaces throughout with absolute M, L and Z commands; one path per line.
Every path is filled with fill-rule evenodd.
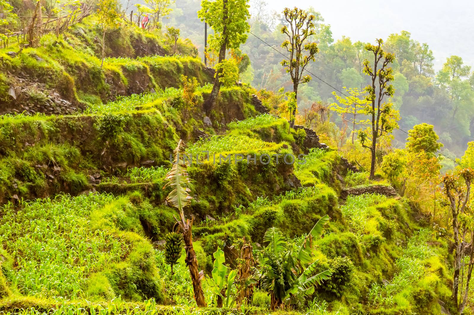
M 294 8 L 283 10 L 287 25 L 283 25 L 282 34 L 288 36 L 282 43 L 282 47 L 290 53 L 289 60 L 283 59 L 281 64 L 289 72 L 293 83 L 293 93 L 295 100 L 298 99 L 298 86 L 300 83 L 311 81 L 310 75 L 303 75 L 303 71 L 310 61 L 315 61 L 318 53 L 318 45 L 315 42 L 308 42 L 309 36 L 315 35 L 314 15 L 305 10 Z M 290 29 L 288 29 L 290 27 Z M 290 115 L 290 127 L 294 126 L 296 108 Z

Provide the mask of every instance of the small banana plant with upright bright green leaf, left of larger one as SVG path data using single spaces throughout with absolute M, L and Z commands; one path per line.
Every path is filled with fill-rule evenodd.
M 212 269 L 211 276 L 206 276 L 206 280 L 211 288 L 212 292 L 217 297 L 217 306 L 223 306 L 223 300 L 225 299 L 224 306 L 229 308 L 230 305 L 230 294 L 232 293 L 232 287 L 234 280 L 237 276 L 235 270 L 228 271 L 228 267 L 225 265 L 226 258 L 224 252 L 218 247 L 217 251 L 214 252 L 214 268 Z

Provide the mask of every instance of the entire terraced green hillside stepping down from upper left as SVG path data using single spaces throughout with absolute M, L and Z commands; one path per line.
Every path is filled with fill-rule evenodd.
M 267 231 L 290 248 L 281 257 L 307 246 L 305 270 L 327 275 L 276 313 L 447 312 L 448 243 L 387 180 L 290 128 L 276 115 L 282 98 L 246 84 L 221 88 L 206 113 L 213 72 L 189 42 L 169 56 L 161 35 L 124 25 L 108 35 L 100 70 L 97 32 L 91 17 L 37 48 L 0 50 L 0 312 L 269 314 Z M 182 75 L 199 82 L 187 117 Z M 165 184 L 180 139 L 193 159 L 184 213 L 210 307 L 196 306 L 189 249 L 173 269 L 164 250 L 179 216 Z M 227 307 L 214 307 L 218 261 L 242 270 L 246 246 L 253 282 L 238 275 Z M 246 285 L 251 298 L 237 304 Z

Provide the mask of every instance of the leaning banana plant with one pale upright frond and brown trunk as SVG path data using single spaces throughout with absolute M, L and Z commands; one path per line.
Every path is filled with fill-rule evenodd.
M 191 220 L 186 219 L 184 216 L 183 209 L 190 203 L 192 197 L 189 195 L 191 191 L 191 180 L 186 171 L 186 164 L 184 163 L 184 148 L 185 144 L 182 140 L 178 142 L 176 149 L 174 149 L 174 162 L 171 170 L 166 174 L 165 180 L 168 182 L 164 185 L 163 189 L 172 187 L 173 190 L 169 193 L 166 200 L 173 207 L 179 210 L 179 219 L 174 217 L 178 223 L 184 241 L 184 249 L 186 250 L 186 257 L 184 261 L 189 267 L 189 273 L 191 274 L 192 288 L 194 289 L 194 298 L 196 299 L 197 306 L 206 307 L 206 300 L 204 298 L 204 291 L 202 290 L 202 270 L 199 271 L 198 260 L 196 259 L 196 252 L 192 246 L 192 223 L 194 218 Z

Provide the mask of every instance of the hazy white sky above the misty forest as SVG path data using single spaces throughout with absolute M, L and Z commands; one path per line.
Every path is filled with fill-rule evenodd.
M 459 55 L 474 68 L 473 0 L 267 0 L 271 9 L 308 8 L 321 12 L 331 25 L 333 38 L 349 36 L 353 41 L 386 39 L 406 30 L 420 43 L 428 43 L 437 69 L 450 55 Z

